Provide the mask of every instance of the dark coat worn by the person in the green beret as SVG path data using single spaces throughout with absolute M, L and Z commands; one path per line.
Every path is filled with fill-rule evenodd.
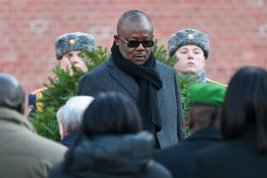
M 155 151 L 153 158 L 166 166 L 174 178 L 188 178 L 195 153 L 218 142 L 220 142 L 218 129 L 208 127 L 197 131 L 184 142 Z

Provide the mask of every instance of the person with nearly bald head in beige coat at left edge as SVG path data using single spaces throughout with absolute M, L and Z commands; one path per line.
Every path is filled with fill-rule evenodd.
M 24 98 L 17 79 L 0 73 L 0 178 L 47 178 L 67 151 L 36 134 L 24 117 Z

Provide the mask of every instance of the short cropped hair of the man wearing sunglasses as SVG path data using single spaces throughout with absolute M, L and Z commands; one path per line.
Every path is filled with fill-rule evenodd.
M 121 25 L 125 19 L 129 19 L 130 21 L 135 21 L 135 22 L 141 22 L 142 20 L 147 19 L 148 22 L 151 24 L 151 27 L 152 27 L 151 19 L 146 13 L 139 11 L 139 10 L 131 10 L 131 11 L 125 12 L 119 18 L 118 23 L 117 23 L 117 33 L 118 34 L 120 34 L 120 28 L 121 28 Z

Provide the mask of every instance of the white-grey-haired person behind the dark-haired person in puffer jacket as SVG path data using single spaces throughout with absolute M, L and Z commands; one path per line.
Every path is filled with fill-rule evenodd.
M 83 113 L 94 100 L 91 96 L 74 96 L 57 111 L 61 143 L 71 146 L 83 121 Z

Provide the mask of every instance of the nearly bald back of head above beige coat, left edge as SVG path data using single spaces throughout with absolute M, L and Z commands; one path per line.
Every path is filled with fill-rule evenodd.
M 0 107 L 8 107 L 24 114 L 24 91 L 15 77 L 0 73 Z

